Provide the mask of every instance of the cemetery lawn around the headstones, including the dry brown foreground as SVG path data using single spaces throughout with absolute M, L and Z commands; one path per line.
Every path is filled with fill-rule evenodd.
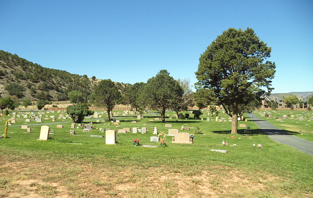
M 172 124 L 171 128 L 194 133 L 194 128 L 199 126 L 201 134 L 195 134 L 194 144 L 175 144 L 167 136 L 165 147 L 150 142 L 150 137 L 156 136 L 153 127 L 166 134 L 169 129 L 151 115 L 141 120 L 120 118 L 119 125 L 112 125 L 103 121 L 107 118 L 105 114 L 100 114 L 103 117 L 96 119 L 99 122 L 86 119 L 93 122 L 91 132 L 75 128 L 77 135 L 73 136 L 69 133 L 69 119 L 62 120 L 63 128 L 57 128 L 52 119 L 44 120 L 46 115 L 59 117 L 61 113 L 43 114 L 43 122 L 52 123 L 47 125 L 54 133 L 47 141 L 37 140 L 41 125 L 29 125 L 37 123 L 25 123 L 25 118 L 16 118 L 17 123 L 8 127 L 9 138 L 0 139 L 0 197 L 313 197 L 313 156 L 273 142 L 251 121 L 238 122 L 238 126 L 246 124 L 251 130 L 246 134 L 246 127 L 238 127 L 239 134 L 232 139 L 231 122 L 216 122 L 212 117 L 207 122 L 207 111 L 201 116 L 203 121 L 170 119 L 174 113 L 167 112 L 165 124 Z M 190 112 L 184 113 L 193 117 Z M 228 120 L 222 111 L 220 114 Z M 1 126 L 11 117 L 0 117 Z M 156 118 L 159 117 L 158 114 Z M 29 125 L 30 133 L 16 126 L 24 124 Z M 181 130 L 182 125 L 190 130 Z M 105 136 L 100 128 L 123 127 L 147 127 L 148 132 L 118 133 L 117 145 L 106 145 L 105 138 L 90 137 L 91 134 Z M 299 130 L 313 136 L 309 129 Z M 3 132 L 4 127 L 0 127 L 0 134 Z M 134 147 L 134 139 L 139 139 L 140 145 L 156 148 Z M 223 146 L 223 140 L 229 145 Z M 263 148 L 253 144 L 262 144 Z M 227 153 L 210 149 L 223 149 Z

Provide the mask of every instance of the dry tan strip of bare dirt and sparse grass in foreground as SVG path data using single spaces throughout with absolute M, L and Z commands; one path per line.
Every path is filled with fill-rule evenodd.
M 273 186 L 283 181 L 283 178 L 272 175 L 226 171 L 225 167 L 211 167 L 197 175 L 170 170 L 171 167 L 105 167 L 92 163 L 12 157 L 0 161 L 0 197 L 276 197 Z M 268 191 L 274 196 L 270 196 Z M 289 198 L 287 195 L 283 197 Z

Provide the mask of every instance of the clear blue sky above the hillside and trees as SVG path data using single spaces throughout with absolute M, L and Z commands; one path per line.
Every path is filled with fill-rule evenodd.
M 0 49 L 43 67 L 147 82 L 197 82 L 199 57 L 230 27 L 272 48 L 272 93 L 313 91 L 312 0 L 0 0 Z

